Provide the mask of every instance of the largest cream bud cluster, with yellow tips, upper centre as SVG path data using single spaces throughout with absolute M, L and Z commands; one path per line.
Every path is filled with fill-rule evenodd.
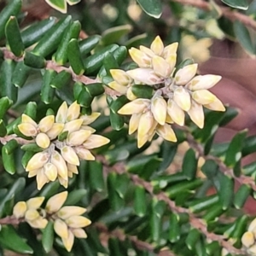
M 131 114 L 129 133 L 137 131 L 139 148 L 150 141 L 155 133 L 175 142 L 177 139 L 169 124 L 184 125 L 185 113 L 189 114 L 195 125 L 202 128 L 203 107 L 225 110 L 222 102 L 208 90 L 218 83 L 220 76 L 195 75 L 197 64 L 175 69 L 177 43 L 164 47 L 160 37 L 156 37 L 150 49 L 144 46 L 131 48 L 130 55 L 138 68 L 127 72 L 110 70 L 113 82 L 108 85 L 131 100 L 118 113 Z M 152 97 L 137 98 L 132 91 L 132 86 L 136 84 L 151 86 L 154 89 Z

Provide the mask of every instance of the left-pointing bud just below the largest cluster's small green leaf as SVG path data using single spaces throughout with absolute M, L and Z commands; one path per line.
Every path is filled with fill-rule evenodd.
M 150 105 L 150 100 L 138 98 L 132 102 L 125 104 L 122 108 L 119 109 L 118 113 L 120 114 L 133 114 L 133 113 L 142 113 Z

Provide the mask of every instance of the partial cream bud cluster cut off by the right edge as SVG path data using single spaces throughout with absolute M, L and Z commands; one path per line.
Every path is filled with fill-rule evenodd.
M 241 236 L 241 243 L 249 255 L 256 255 L 256 218 L 249 224 L 247 232 Z

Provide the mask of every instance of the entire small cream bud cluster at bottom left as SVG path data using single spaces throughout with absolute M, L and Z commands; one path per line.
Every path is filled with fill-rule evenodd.
M 90 219 L 81 216 L 86 212 L 84 207 L 64 206 L 67 200 L 67 191 L 49 198 L 45 208 L 41 208 L 44 197 L 34 197 L 28 201 L 19 201 L 15 204 L 13 215 L 30 224 L 32 228 L 42 229 L 49 221 L 54 223 L 55 233 L 61 237 L 64 247 L 70 252 L 74 237 L 86 238 L 82 228 L 90 225 Z

